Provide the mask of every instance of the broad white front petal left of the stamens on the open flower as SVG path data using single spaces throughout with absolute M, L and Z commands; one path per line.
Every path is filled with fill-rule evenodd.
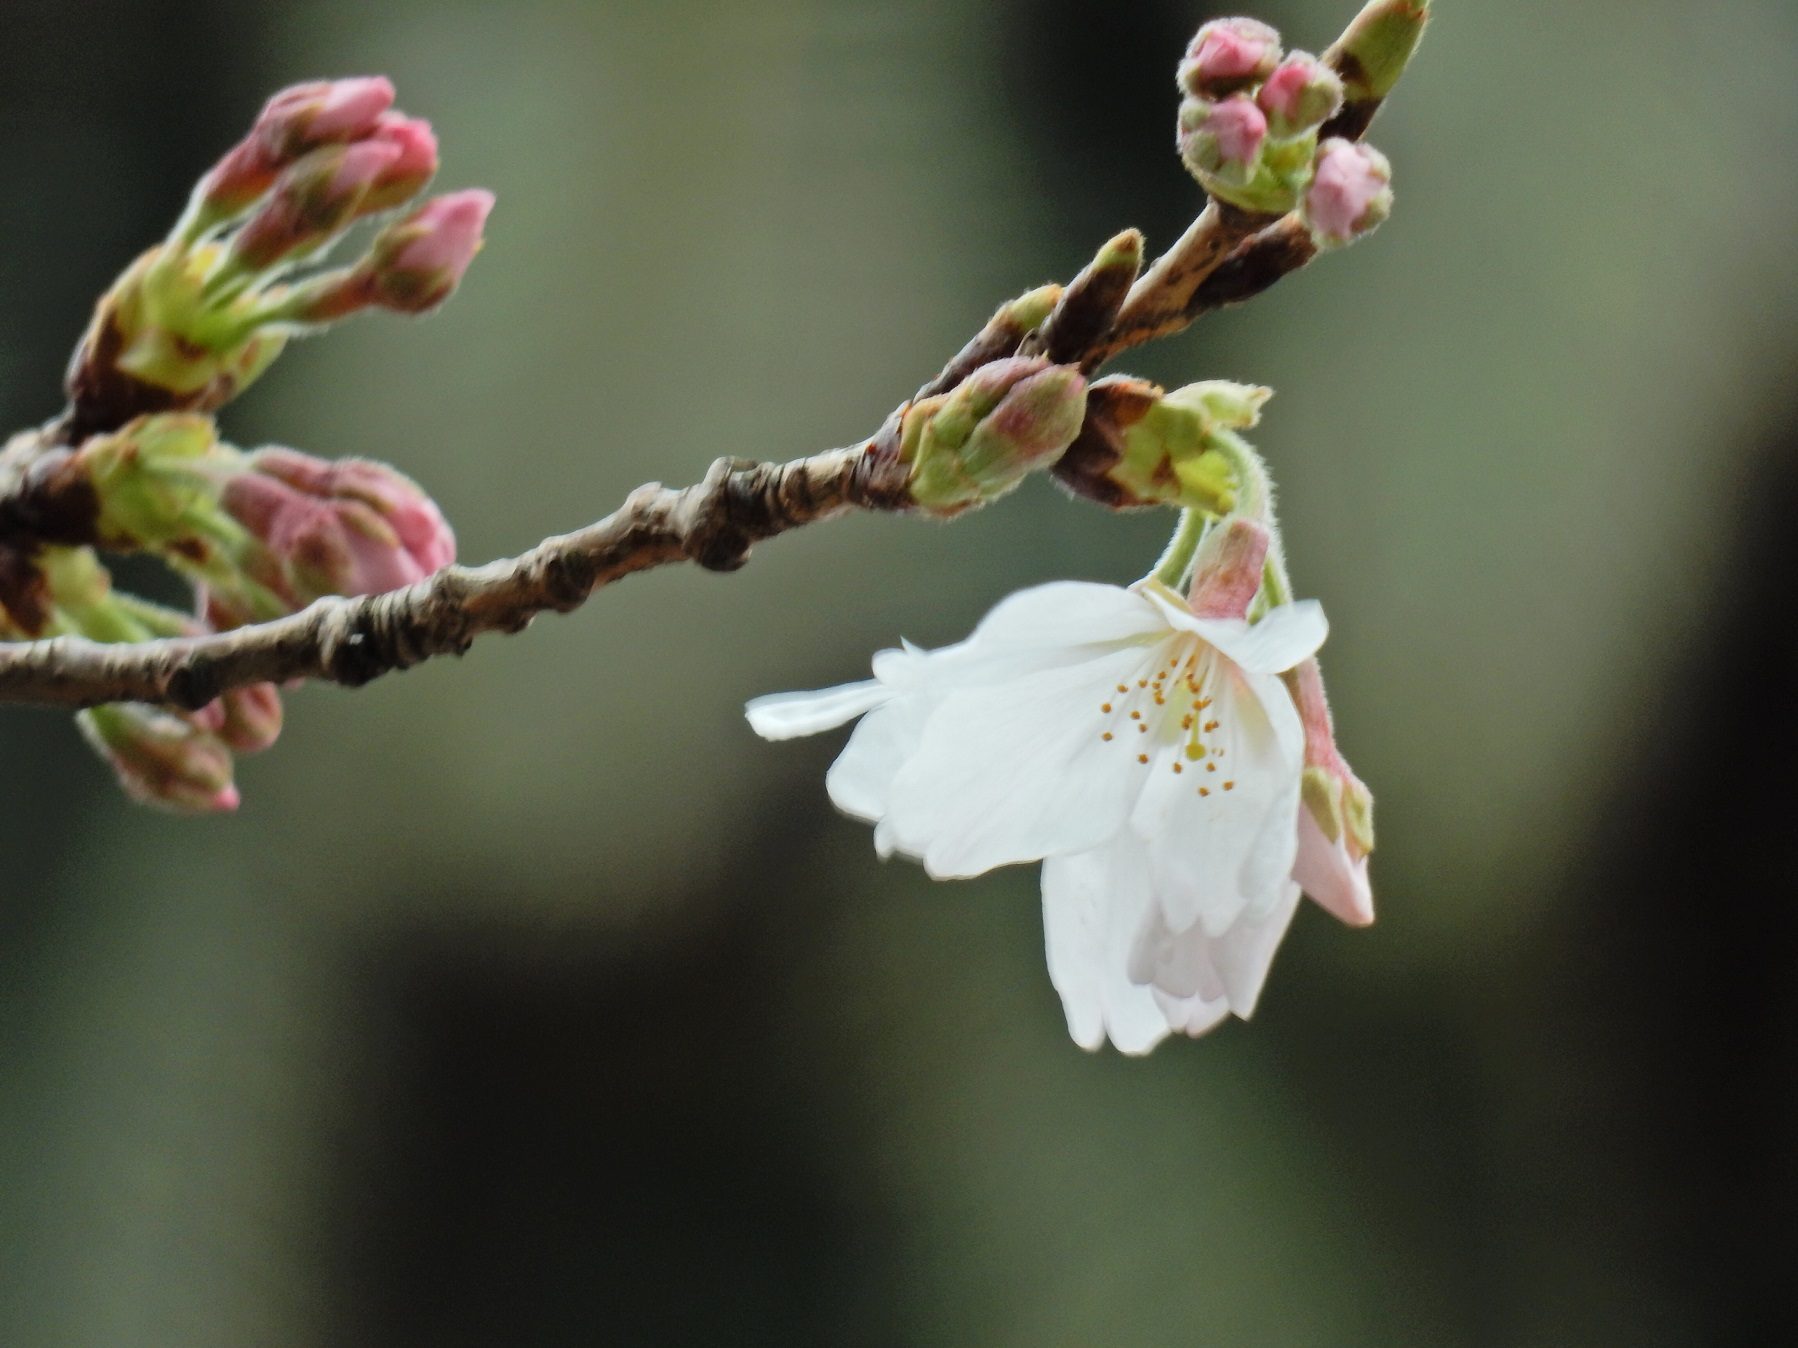
M 1109 841 L 1140 767 L 1102 739 L 1100 706 L 1153 658 L 1126 647 L 948 694 L 892 784 L 899 848 L 940 879 Z

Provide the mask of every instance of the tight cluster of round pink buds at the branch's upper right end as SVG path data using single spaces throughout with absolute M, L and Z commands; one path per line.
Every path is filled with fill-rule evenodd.
M 1340 246 L 1392 210 L 1392 167 L 1366 146 L 1320 133 L 1350 93 L 1377 106 L 1361 65 L 1393 58 L 1397 36 L 1415 47 L 1426 5 L 1375 0 L 1329 59 L 1286 54 L 1280 34 L 1251 18 L 1221 18 L 1199 29 L 1179 65 L 1179 156 L 1217 201 L 1255 214 L 1298 210 L 1322 246 Z M 1402 11 L 1402 13 L 1399 13 Z M 1397 36 L 1395 36 L 1397 34 Z M 1381 67 L 1397 79 L 1410 47 Z M 1375 61 L 1377 63 L 1377 61 Z M 1359 81 L 1348 88 L 1340 70 Z M 1390 88 L 1390 84 L 1386 86 Z

